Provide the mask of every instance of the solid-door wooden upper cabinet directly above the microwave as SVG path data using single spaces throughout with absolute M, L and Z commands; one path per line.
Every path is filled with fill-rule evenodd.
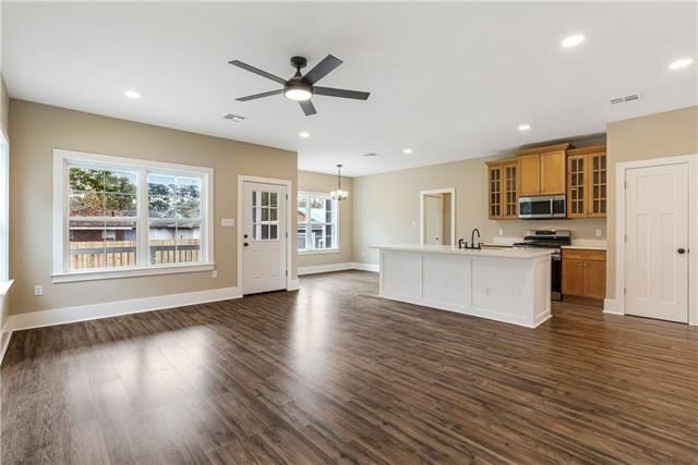
M 519 164 L 519 195 L 565 194 L 569 147 L 570 144 L 557 144 L 516 154 Z

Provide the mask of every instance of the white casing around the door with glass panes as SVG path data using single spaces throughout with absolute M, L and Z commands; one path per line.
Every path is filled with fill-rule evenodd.
M 294 236 L 293 231 L 296 231 L 296 228 L 292 228 L 292 215 L 291 212 L 294 210 L 294 208 L 292 208 L 296 205 L 294 201 L 294 197 L 293 197 L 293 182 L 290 180 L 280 180 L 280 179 L 275 179 L 275 178 L 260 178 L 260 176 L 250 176 L 250 175 L 245 175 L 245 174 L 239 174 L 238 175 L 238 215 L 237 215 L 237 230 L 238 233 L 236 234 L 237 236 L 237 246 L 236 246 L 236 253 L 238 255 L 238 289 L 240 291 L 240 293 L 242 293 L 242 290 L 244 289 L 244 283 L 243 283 L 243 279 L 244 279 L 244 273 L 242 272 L 242 234 L 243 234 L 243 222 L 244 222 L 244 217 L 243 217 L 243 211 L 244 211 L 244 193 L 243 193 L 243 185 L 245 182 L 254 182 L 254 183 L 264 183 L 264 184 L 278 184 L 278 185 L 284 185 L 286 186 L 286 192 L 288 194 L 288 199 L 286 200 L 286 231 L 287 231 L 287 236 L 286 236 L 286 267 L 288 268 L 288 276 L 286 277 L 286 290 L 287 291 L 294 291 L 297 289 L 299 289 L 299 281 L 298 279 L 293 278 L 293 249 L 291 248 L 292 242 L 291 238 Z

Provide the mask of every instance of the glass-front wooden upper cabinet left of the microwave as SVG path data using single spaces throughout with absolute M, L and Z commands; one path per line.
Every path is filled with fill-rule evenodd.
M 518 217 L 518 161 L 488 162 L 488 215 L 491 220 Z

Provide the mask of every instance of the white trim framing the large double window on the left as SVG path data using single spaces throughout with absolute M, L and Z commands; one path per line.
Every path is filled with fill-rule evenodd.
M 134 169 L 140 171 L 139 182 L 139 231 L 137 231 L 137 267 L 111 268 L 98 270 L 68 271 L 69 247 L 68 220 L 70 203 L 68 189 L 70 178 L 68 166 L 70 163 L 86 163 L 92 166 L 105 166 Z M 148 261 L 148 196 L 146 170 L 157 170 L 160 173 L 191 175 L 196 173 L 202 176 L 203 188 L 201 198 L 201 228 L 202 228 L 202 261 L 194 264 L 143 266 Z M 145 195 L 143 195 L 145 193 Z M 168 274 L 194 271 L 209 271 L 214 264 L 214 170 L 205 167 L 192 167 L 188 164 L 166 163 L 135 158 L 111 157 L 82 151 L 53 149 L 53 282 L 73 282 L 104 280 L 112 278 L 130 278 L 151 274 Z M 144 222 L 145 221 L 145 222 Z

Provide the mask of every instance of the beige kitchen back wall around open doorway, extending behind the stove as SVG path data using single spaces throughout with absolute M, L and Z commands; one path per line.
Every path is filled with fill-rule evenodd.
M 420 191 L 432 188 L 456 188 L 456 241 L 464 237 L 470 242 L 473 228 L 480 230 L 483 242 L 492 242 L 500 229 L 507 237 L 521 237 L 527 229 L 549 228 L 570 229 L 575 238 L 598 238 L 595 229 L 605 235 L 603 219 L 489 220 L 486 160 L 478 158 L 354 178 L 353 261 L 376 264 L 377 253 L 370 245 L 418 244 Z

